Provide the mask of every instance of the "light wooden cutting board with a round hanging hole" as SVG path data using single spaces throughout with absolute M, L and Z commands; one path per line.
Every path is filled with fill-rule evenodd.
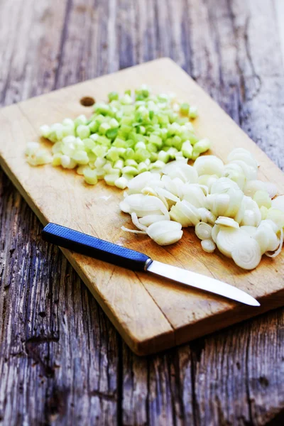
M 249 307 L 184 288 L 147 273 L 134 273 L 62 249 L 67 259 L 136 354 L 151 354 L 187 342 L 245 318 L 284 305 L 284 256 L 263 256 L 260 266 L 246 272 L 218 250 L 202 251 L 192 229 L 182 240 L 160 247 L 148 236 L 121 231 L 131 226 L 129 215 L 119 211 L 122 191 L 99 182 L 85 185 L 73 170 L 45 165 L 33 168 L 23 151 L 28 141 L 38 141 L 38 128 L 67 116 L 91 114 L 80 99 L 107 98 L 111 90 L 123 92 L 140 84 L 154 92 L 175 92 L 180 99 L 197 105 L 200 118 L 197 134 L 212 140 L 212 153 L 226 160 L 233 148 L 244 147 L 256 156 L 259 177 L 278 185 L 284 192 L 284 175 L 222 109 L 175 63 L 163 58 L 99 77 L 50 94 L 29 99 L 0 110 L 0 163 L 21 195 L 45 225 L 55 222 L 116 244 L 143 251 L 151 258 L 219 280 L 256 297 L 261 307 Z M 49 145 L 42 140 L 42 143 Z

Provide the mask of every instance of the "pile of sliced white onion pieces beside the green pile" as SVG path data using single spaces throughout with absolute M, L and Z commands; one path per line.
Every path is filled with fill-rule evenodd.
M 214 155 L 193 166 L 178 159 L 128 182 L 120 208 L 139 229 L 129 231 L 168 245 L 182 238 L 182 227 L 195 226 L 204 251 L 217 246 L 251 270 L 263 254 L 275 257 L 283 246 L 284 196 L 275 197 L 275 185 L 257 180 L 257 171 L 244 148 L 231 151 L 226 164 Z

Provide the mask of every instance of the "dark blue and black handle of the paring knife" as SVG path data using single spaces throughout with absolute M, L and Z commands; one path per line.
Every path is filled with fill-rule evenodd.
M 49 243 L 132 271 L 143 271 L 152 262 L 146 254 L 57 224 L 46 225 L 42 236 Z

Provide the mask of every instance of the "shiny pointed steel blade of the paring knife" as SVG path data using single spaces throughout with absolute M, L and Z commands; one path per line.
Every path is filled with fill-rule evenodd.
M 153 261 L 148 268 L 146 268 L 146 271 L 169 278 L 170 280 L 178 281 L 178 283 L 190 285 L 190 287 L 199 288 L 200 290 L 209 291 L 215 295 L 245 303 L 246 305 L 261 305 L 251 295 L 245 293 L 243 290 L 239 290 L 239 288 L 234 287 L 234 285 L 223 283 L 222 281 L 207 277 L 207 275 L 201 275 L 200 273 L 167 265 L 167 263 Z

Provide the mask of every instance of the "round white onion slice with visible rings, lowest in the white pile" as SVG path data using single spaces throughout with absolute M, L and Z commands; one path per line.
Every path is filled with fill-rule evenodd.
M 231 257 L 237 266 L 250 271 L 261 261 L 261 249 L 255 239 L 246 236 L 236 242 Z

